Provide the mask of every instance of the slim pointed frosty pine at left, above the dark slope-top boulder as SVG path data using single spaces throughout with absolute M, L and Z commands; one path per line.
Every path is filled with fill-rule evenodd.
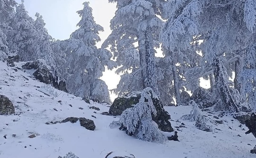
M 38 37 L 35 39 L 38 47 L 35 50 L 32 59 L 44 59 L 50 67 L 55 70 L 55 55 L 52 51 L 52 37 L 48 34 L 47 29 L 44 27 L 45 23 L 42 15 L 39 13 L 35 14 L 35 29 L 38 33 Z

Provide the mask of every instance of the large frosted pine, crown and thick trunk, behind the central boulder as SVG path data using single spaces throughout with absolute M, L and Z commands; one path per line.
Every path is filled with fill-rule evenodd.
M 109 0 L 109 2 L 116 2 L 117 10 L 111 20 L 112 33 L 103 46 L 111 45 L 114 57 L 125 56 L 123 54 L 134 53 L 130 50 L 137 50 L 140 56 L 139 70 L 143 87 L 152 87 L 159 95 L 155 75 L 154 46 L 159 46 L 158 34 L 162 27 L 162 21 L 156 15 L 161 15 L 162 3 L 165 3 L 165 0 Z M 120 65 L 122 59 L 124 58 L 120 58 Z M 133 66 L 125 65 L 123 70 Z

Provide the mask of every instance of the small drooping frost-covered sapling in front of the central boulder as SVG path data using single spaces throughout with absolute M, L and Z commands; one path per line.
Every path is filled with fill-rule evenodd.
M 157 98 L 157 95 L 150 87 L 145 88 L 141 93 L 139 103 L 123 111 L 118 123 L 122 124 L 120 129 L 126 130 L 128 135 L 134 135 L 143 141 L 164 143 L 167 141 L 166 135 L 152 121 L 151 113 L 156 115 L 157 111 L 151 96 Z

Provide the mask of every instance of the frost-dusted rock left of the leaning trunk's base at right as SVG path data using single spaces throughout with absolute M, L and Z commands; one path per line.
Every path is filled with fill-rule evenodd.
M 202 87 L 198 87 L 191 96 L 191 99 L 194 100 L 200 108 L 212 107 L 215 103 L 210 102 L 211 98 L 212 94 Z

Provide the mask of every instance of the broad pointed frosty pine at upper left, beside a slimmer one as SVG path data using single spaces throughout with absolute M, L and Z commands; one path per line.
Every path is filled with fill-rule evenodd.
M 16 13 L 12 17 L 11 30 L 7 31 L 7 42 L 9 51 L 20 55 L 22 61 L 29 61 L 38 49 L 37 31 L 34 26 L 34 20 L 29 17 L 24 6 L 24 0 L 17 6 Z

